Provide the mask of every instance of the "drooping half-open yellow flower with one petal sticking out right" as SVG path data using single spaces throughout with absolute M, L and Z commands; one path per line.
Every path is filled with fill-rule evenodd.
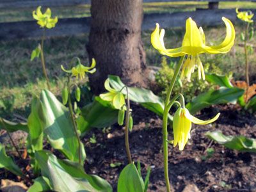
M 179 150 L 183 150 L 188 139 L 190 139 L 191 124 L 206 125 L 216 121 L 220 113 L 218 113 L 211 120 L 200 120 L 192 116 L 188 109 L 179 108 L 173 116 L 173 147 L 179 144 Z

